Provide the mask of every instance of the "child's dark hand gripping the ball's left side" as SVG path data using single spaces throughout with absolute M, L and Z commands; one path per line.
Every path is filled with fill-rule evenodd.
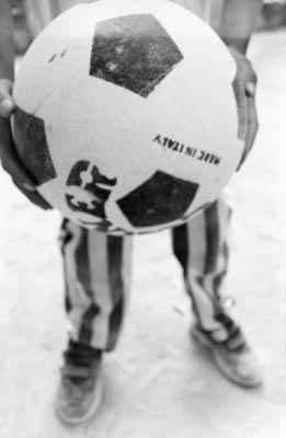
M 10 116 L 14 111 L 14 102 L 11 93 L 12 82 L 0 79 L 0 159 L 2 166 L 10 174 L 20 191 L 32 203 L 46 210 L 50 206 L 36 192 L 36 184 L 21 163 L 12 139 Z

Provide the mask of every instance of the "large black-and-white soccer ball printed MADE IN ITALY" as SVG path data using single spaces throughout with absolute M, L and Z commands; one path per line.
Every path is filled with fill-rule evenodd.
M 159 231 L 213 203 L 238 166 L 236 64 L 165 0 L 71 8 L 26 53 L 13 136 L 37 191 L 82 227 Z

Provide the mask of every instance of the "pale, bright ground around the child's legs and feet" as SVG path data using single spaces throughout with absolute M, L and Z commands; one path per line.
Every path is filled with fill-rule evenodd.
M 226 381 L 188 338 L 190 303 L 170 237 L 136 239 L 122 342 L 105 358 L 94 420 L 54 416 L 66 343 L 59 216 L 30 205 L 0 173 L 0 438 L 283 438 L 286 435 L 286 32 L 254 36 L 260 134 L 229 191 L 234 206 L 226 292 L 264 368 L 264 387 Z

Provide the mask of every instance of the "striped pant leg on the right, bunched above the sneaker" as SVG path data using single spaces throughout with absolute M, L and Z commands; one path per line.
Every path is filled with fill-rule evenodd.
M 184 272 L 186 291 L 202 328 L 227 338 L 229 320 L 220 288 L 228 265 L 230 208 L 220 198 L 186 224 L 172 231 L 173 251 Z

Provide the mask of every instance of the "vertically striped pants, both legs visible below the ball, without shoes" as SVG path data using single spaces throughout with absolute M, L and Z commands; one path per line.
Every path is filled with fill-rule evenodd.
M 229 217 L 230 209 L 221 198 L 171 231 L 196 321 L 221 339 L 227 337 L 219 289 L 227 270 Z M 65 220 L 60 242 L 71 338 L 112 350 L 128 302 L 131 237 L 90 231 Z

